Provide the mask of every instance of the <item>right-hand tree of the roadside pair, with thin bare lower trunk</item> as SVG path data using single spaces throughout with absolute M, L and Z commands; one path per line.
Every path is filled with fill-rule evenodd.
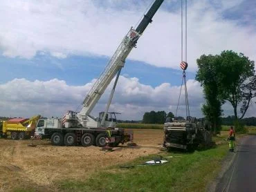
M 235 120 L 242 119 L 253 97 L 256 97 L 255 64 L 244 54 L 232 50 L 217 56 L 218 86 L 221 99 L 230 102 Z M 240 107 L 241 116 L 237 110 Z

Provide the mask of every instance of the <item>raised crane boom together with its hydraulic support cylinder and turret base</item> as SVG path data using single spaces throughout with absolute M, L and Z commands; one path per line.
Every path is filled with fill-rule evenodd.
M 109 97 L 109 102 L 107 104 L 104 117 L 102 117 L 103 121 L 101 123 L 101 126 L 103 126 L 105 115 L 109 110 L 109 105 L 113 97 L 113 92 L 116 88 L 116 83 L 118 81 L 120 71 L 122 67 L 125 66 L 125 59 L 129 55 L 129 52 L 131 52 L 132 48 L 136 46 L 137 41 L 140 38 L 140 35 L 143 34 L 148 24 L 152 22 L 152 18 L 154 17 L 156 11 L 158 10 L 162 3 L 163 0 L 154 1 L 152 6 L 147 11 L 147 14 L 144 15 L 143 19 L 140 21 L 136 29 L 131 28 L 129 30 L 127 35 L 125 35 L 125 37 L 122 39 L 120 46 L 118 46 L 118 49 L 111 57 L 109 63 L 104 68 L 104 71 L 101 73 L 100 77 L 95 81 L 88 95 L 86 95 L 81 111 L 75 115 L 66 114 L 66 123 L 68 123 L 68 119 L 76 119 L 79 122 L 80 126 L 82 125 L 83 127 L 100 126 L 99 120 L 91 117 L 91 115 L 89 114 L 95 107 L 95 104 L 98 103 L 98 100 L 106 90 L 107 86 L 109 86 L 113 77 L 115 77 L 116 75 L 116 81 L 111 91 L 111 95 Z M 75 126 L 73 123 L 70 123 L 71 121 L 69 121 L 69 124 L 65 124 L 65 127 L 68 128 L 70 126 Z

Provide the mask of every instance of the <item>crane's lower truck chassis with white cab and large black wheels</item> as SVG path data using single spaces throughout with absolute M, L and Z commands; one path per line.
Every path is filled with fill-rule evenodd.
M 69 111 L 68 113 L 71 113 Z M 73 112 L 75 113 L 75 112 Z M 110 113 L 115 115 L 115 113 Z M 108 120 L 116 122 L 116 118 Z M 126 133 L 124 128 L 64 128 L 63 119 L 39 119 L 35 128 L 36 139 L 50 139 L 55 146 L 106 146 L 109 140 L 110 146 L 131 141 L 132 133 Z

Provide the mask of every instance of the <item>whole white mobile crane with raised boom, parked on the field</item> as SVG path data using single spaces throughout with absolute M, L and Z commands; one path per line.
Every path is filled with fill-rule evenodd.
M 106 144 L 105 133 L 107 130 L 111 131 L 110 142 L 114 145 L 129 140 L 130 135 L 125 134 L 124 129 L 116 128 L 116 113 L 109 113 L 109 106 L 120 72 L 125 66 L 125 59 L 131 50 L 136 47 L 138 39 L 148 24 L 152 22 L 153 16 L 162 3 L 163 0 L 154 1 L 136 29 L 131 28 L 125 35 L 104 71 L 95 81 L 88 95 L 86 95 L 82 109 L 79 112 L 68 111 L 63 119 L 39 119 L 35 135 L 51 138 L 53 145 L 62 145 L 64 143 L 66 146 L 73 146 L 76 143 L 81 143 L 82 146 L 90 146 L 92 144 L 104 146 Z M 115 76 L 116 79 L 105 111 L 100 113 L 98 118 L 93 117 L 90 115 L 91 111 Z

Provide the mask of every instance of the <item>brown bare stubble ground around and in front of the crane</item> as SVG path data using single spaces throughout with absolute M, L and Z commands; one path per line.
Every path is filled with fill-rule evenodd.
M 138 146 L 120 145 L 113 152 L 89 146 L 51 146 L 50 141 L 0 139 L 0 191 L 58 191 L 59 180 L 86 180 L 106 166 L 160 152 L 163 130 L 134 130 Z

